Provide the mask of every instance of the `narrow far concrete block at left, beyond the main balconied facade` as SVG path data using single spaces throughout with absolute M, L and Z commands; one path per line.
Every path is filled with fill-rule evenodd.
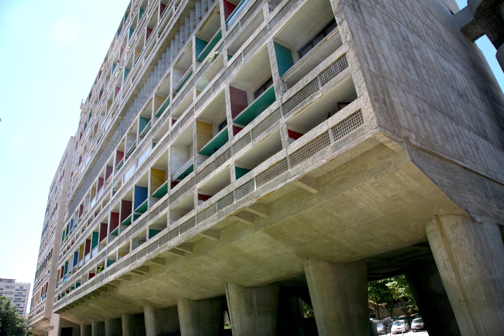
M 29 330 L 38 335 L 47 333 L 52 313 L 52 298 L 59 275 L 57 259 L 63 242 L 62 232 L 75 145 L 75 138 L 71 137 L 49 188 L 28 317 Z

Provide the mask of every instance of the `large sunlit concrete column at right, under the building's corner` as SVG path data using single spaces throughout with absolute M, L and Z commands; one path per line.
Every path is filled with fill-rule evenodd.
M 504 334 L 504 245 L 493 223 L 434 217 L 425 225 L 463 336 Z

